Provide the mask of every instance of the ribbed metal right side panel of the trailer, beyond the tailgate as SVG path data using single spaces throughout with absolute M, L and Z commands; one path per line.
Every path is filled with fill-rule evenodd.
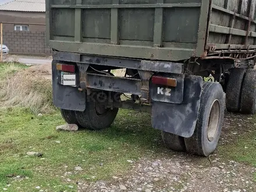
M 256 48 L 256 1 L 212 0 L 205 49 L 248 50 Z

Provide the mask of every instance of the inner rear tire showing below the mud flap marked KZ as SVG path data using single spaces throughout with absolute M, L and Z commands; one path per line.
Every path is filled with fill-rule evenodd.
M 173 151 L 186 151 L 184 137 L 162 131 L 163 143 Z

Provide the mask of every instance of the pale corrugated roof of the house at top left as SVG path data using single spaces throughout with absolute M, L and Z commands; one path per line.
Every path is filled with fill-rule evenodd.
M 0 5 L 0 10 L 45 12 L 45 0 L 12 0 Z

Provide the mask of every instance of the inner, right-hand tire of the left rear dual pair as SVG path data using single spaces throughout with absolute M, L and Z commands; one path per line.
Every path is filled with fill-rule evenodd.
M 89 130 L 106 129 L 116 118 L 118 108 L 107 108 L 99 106 L 99 102 L 90 101 L 86 103 L 86 110 L 76 111 L 76 118 L 81 127 Z

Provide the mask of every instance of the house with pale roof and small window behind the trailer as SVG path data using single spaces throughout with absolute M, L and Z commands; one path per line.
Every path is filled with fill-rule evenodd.
M 1 1 L 0 23 L 10 54 L 51 54 L 45 40 L 45 0 Z

